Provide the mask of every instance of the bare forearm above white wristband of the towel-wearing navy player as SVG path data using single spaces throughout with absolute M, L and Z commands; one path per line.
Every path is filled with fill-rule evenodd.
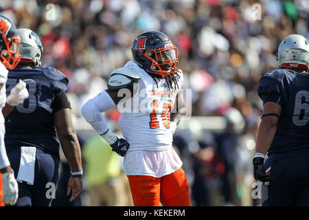
M 62 151 L 67 158 L 73 172 L 82 168 L 82 153 L 75 132 L 62 133 L 58 135 Z

